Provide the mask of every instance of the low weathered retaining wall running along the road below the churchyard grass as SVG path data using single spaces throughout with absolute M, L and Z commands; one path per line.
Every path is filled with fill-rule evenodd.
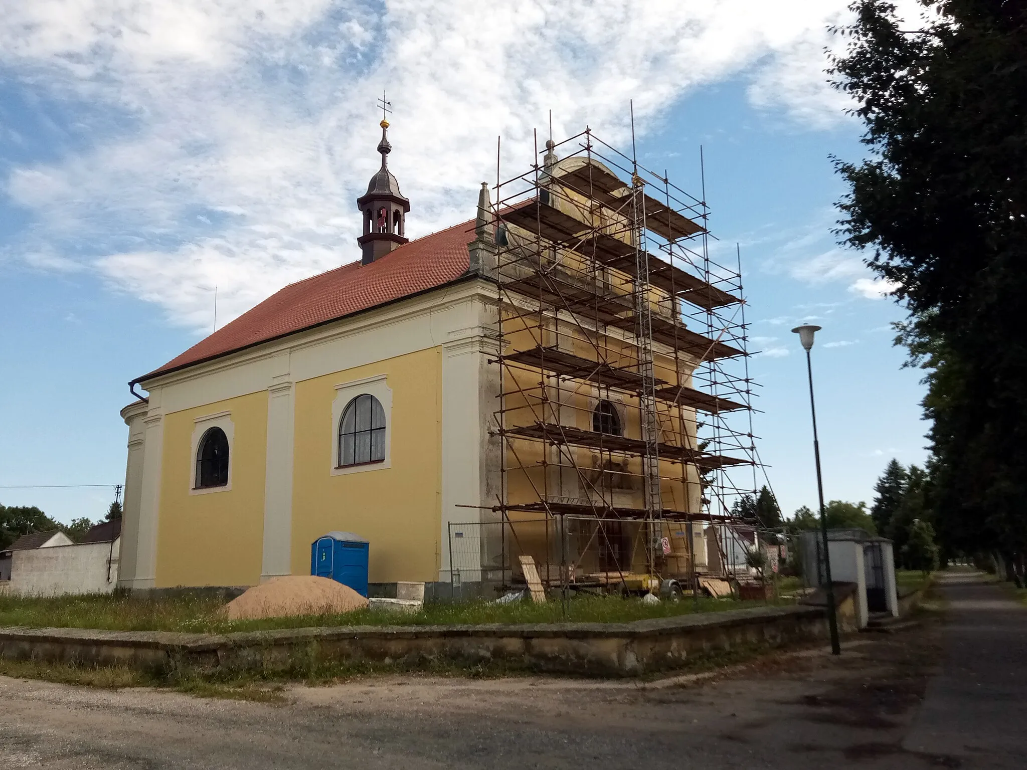
M 505 661 L 534 670 L 637 676 L 705 655 L 825 639 L 817 607 L 765 607 L 634 623 L 351 626 L 228 634 L 0 629 L 0 657 L 159 672 L 290 670 L 297 661 L 418 665 Z

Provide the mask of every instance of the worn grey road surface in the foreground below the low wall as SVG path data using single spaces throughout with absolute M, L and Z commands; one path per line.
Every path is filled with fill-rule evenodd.
M 0 678 L 0 767 L 1022 768 L 1027 611 L 943 590 L 944 625 L 646 688 L 389 677 L 274 705 Z

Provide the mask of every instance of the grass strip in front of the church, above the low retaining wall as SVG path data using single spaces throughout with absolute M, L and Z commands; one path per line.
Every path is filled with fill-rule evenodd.
M 425 605 L 416 613 L 359 610 L 345 614 L 306 615 L 265 620 L 225 620 L 218 611 L 222 603 L 201 596 L 141 600 L 121 595 L 58 596 L 23 599 L 0 596 L 0 627 L 70 627 L 128 631 L 180 631 L 227 633 L 267 628 L 299 628 L 338 625 L 444 625 L 457 623 L 624 623 L 693 612 L 720 612 L 744 607 L 790 605 L 790 601 L 735 602 L 686 598 L 679 602 L 646 605 L 638 599 L 574 596 L 567 615 L 559 601 L 536 605 L 516 602 L 497 605 L 482 601 Z

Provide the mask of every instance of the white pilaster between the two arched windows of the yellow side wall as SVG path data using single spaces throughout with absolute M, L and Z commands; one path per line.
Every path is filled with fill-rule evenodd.
M 282 363 L 288 369 L 288 356 Z M 295 400 L 289 374 L 268 388 L 267 468 L 264 476 L 264 554 L 261 582 L 291 575 L 293 544 L 293 447 Z

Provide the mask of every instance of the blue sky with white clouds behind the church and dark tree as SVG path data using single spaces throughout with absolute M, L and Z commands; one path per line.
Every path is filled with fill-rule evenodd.
M 61 0 L 0 20 L 0 487 L 123 479 L 125 383 L 282 284 L 358 257 L 353 199 L 390 165 L 423 234 L 472 216 L 477 187 L 593 126 L 697 189 L 740 244 L 755 431 L 783 508 L 815 503 L 805 370 L 814 349 L 825 492 L 873 497 L 890 457 L 922 462 L 903 313 L 831 234 L 829 156 L 860 128 L 824 85 L 834 0 L 358 3 Z M 773 6 L 772 8 L 769 6 Z M 631 10 L 629 10 L 631 9 Z M 762 480 L 762 479 L 761 479 Z M 109 488 L 0 488 L 0 502 L 98 518 Z

